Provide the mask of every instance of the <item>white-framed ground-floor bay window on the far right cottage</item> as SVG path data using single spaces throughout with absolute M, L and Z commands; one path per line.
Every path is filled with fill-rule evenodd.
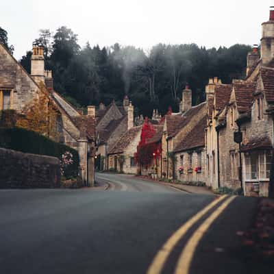
M 247 179 L 269 179 L 270 171 L 270 151 L 252 152 L 245 155 L 245 173 Z

